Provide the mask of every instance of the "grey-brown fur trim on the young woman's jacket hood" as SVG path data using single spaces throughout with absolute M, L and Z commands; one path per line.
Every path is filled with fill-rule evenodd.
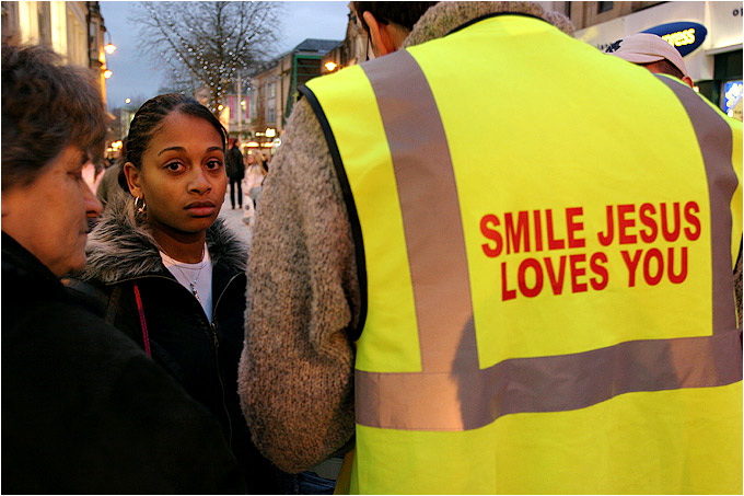
M 213 265 L 245 272 L 247 245 L 220 218 L 207 230 L 207 249 Z M 135 220 L 131 199 L 106 206 L 104 218 L 89 235 L 85 252 L 88 263 L 82 280 L 113 284 L 163 270 L 158 243 L 144 226 Z

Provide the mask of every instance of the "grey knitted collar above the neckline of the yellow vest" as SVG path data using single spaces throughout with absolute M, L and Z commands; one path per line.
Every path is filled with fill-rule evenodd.
M 547 11 L 536 2 L 439 2 L 421 15 L 402 48 L 446 36 L 452 30 L 474 19 L 504 12 L 534 15 L 573 36 L 573 24 L 566 15 Z

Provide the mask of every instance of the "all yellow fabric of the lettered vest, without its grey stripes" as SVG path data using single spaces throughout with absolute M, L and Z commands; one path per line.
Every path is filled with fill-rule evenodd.
M 712 333 L 706 171 L 686 112 L 667 88 L 643 68 L 520 16 L 489 19 L 409 53 L 432 89 L 452 155 L 480 368 L 510 358 Z M 638 100 L 639 86 L 648 100 Z M 359 67 L 313 80 L 309 88 L 338 145 L 364 240 L 369 314 L 357 344 L 356 368 L 420 371 L 408 247 L 374 92 Z M 562 112 L 546 112 L 554 105 Z M 677 132 L 654 139 L 660 127 Z M 741 126 L 732 128 L 739 132 L 733 160 L 741 184 Z M 637 139 L 628 142 L 623 138 L 628 136 Z M 486 166 L 491 174 L 483 173 Z M 675 203 L 678 238 L 664 240 L 656 226 L 655 239 L 643 242 L 641 232 L 650 228 L 641 222 L 641 206 L 652 205 L 652 218 L 660 224 L 662 204 L 672 214 Z M 633 219 L 626 229 L 627 237 L 636 237 L 633 242 L 620 243 L 618 206 L 624 206 L 619 208 L 626 219 Z M 607 207 L 616 232 L 605 246 L 598 233 L 606 230 Z M 574 229 L 574 240 L 585 244 L 548 250 L 548 210 L 556 239 L 568 243 L 567 215 L 576 212 L 568 209 L 577 208 L 581 214 L 572 219 L 574 228 L 577 222 L 581 228 Z M 484 235 L 483 219 L 498 217 L 501 223 L 495 229 L 505 239 L 505 214 L 516 220 L 521 211 L 527 212 L 531 229 L 537 212 L 543 249 L 536 250 L 533 235 L 530 251 L 522 244 L 519 252 L 487 256 L 484 245 L 493 247 L 495 242 Z M 732 237 L 741 240 L 741 185 L 732 214 Z M 431 229 L 437 229 L 437 212 L 431 218 Z M 732 239 L 732 250 L 734 244 L 735 259 L 739 247 Z M 663 270 L 659 258 L 649 255 L 654 250 L 664 261 Z M 640 251 L 632 287 L 624 251 L 628 257 Z M 675 257 L 673 273 L 682 274 L 685 251 L 687 273 L 682 282 L 672 282 L 670 254 Z M 595 266 L 592 256 L 600 257 Z M 661 274 L 658 284 L 643 276 L 644 256 L 648 275 Z M 561 257 L 562 292 L 555 295 L 547 264 L 557 270 Z M 518 284 L 519 267 L 527 258 L 543 270 L 543 287 L 534 297 L 520 292 Z M 526 270 L 525 287 L 534 287 L 535 277 L 535 270 Z M 595 289 L 592 281 L 606 285 Z M 513 299 L 504 300 L 507 290 L 515 291 Z M 457 432 L 358 425 L 350 491 L 741 493 L 741 419 L 740 381 L 722 388 L 628 393 L 577 411 L 512 414 Z

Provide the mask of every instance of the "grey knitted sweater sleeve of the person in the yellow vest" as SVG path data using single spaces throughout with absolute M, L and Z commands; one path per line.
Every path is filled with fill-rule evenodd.
M 353 435 L 354 246 L 325 137 L 298 102 L 258 204 L 239 392 L 256 447 L 300 472 Z

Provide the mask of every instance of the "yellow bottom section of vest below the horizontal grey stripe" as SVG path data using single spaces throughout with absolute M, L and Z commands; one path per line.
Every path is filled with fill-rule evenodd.
M 741 399 L 737 382 L 508 415 L 464 432 L 358 426 L 350 493 L 741 494 Z

